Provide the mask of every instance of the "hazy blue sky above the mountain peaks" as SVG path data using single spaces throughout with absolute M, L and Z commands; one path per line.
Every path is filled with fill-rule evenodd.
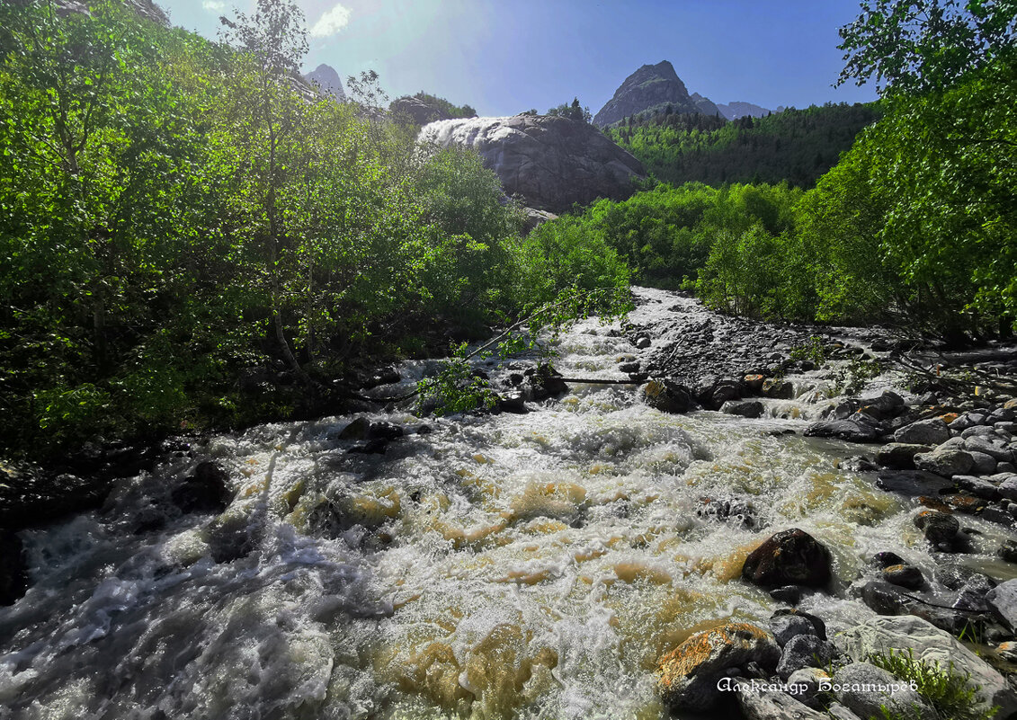
M 215 38 L 253 0 L 158 0 L 173 24 Z M 376 70 L 392 98 L 425 91 L 515 115 L 580 102 L 596 113 L 640 65 L 670 60 L 690 93 L 767 108 L 876 99 L 834 89 L 837 28 L 858 0 L 297 0 L 305 71 Z

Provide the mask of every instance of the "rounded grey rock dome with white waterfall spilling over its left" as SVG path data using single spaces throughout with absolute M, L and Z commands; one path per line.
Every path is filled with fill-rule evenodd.
M 531 207 L 551 213 L 598 197 L 622 199 L 643 165 L 595 127 L 566 118 L 440 120 L 425 125 L 419 139 L 442 147 L 473 147 L 501 180 L 506 194 L 522 195 Z

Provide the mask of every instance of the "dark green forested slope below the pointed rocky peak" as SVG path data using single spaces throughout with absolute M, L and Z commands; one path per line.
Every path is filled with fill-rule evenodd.
M 665 109 L 627 118 L 606 132 L 661 182 L 787 181 L 811 187 L 881 115 L 878 104 L 828 103 L 727 122 Z

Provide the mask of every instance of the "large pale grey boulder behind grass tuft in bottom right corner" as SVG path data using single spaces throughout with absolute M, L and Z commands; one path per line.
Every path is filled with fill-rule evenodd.
M 872 617 L 837 635 L 834 643 L 841 652 L 857 661 L 893 648 L 904 653 L 910 650 L 915 660 L 937 662 L 942 667 L 953 663 L 954 672 L 961 676 L 970 675 L 968 682 L 977 689 L 979 704 L 1001 706 L 997 717 L 1007 718 L 1017 711 L 1017 695 L 1010 689 L 1003 675 L 960 641 L 920 617 Z

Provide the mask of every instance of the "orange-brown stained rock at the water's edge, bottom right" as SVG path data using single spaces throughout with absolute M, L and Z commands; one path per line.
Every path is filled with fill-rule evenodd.
M 720 697 L 717 680 L 750 662 L 773 669 L 780 648 L 773 636 L 747 622 L 697 633 L 660 659 L 657 687 L 672 712 L 709 710 Z

